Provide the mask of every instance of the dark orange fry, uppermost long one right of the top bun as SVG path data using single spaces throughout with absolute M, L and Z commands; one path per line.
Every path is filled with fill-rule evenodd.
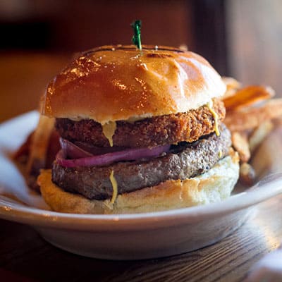
M 257 102 L 274 97 L 271 87 L 251 85 L 238 90 L 233 96 L 223 99 L 227 111 L 242 109 Z

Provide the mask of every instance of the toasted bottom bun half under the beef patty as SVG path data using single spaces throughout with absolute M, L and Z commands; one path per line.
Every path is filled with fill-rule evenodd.
M 220 202 L 231 195 L 238 175 L 238 154 L 232 151 L 207 173 L 182 181 L 167 180 L 156 186 L 118 195 L 114 204 L 111 200 L 88 200 L 65 192 L 52 183 L 50 170 L 41 172 L 38 183 L 45 202 L 56 212 L 133 214 Z

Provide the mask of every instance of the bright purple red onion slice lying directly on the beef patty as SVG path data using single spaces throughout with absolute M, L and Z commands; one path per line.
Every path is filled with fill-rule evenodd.
M 108 154 L 100 154 L 91 157 L 82 157 L 80 159 L 66 159 L 66 154 L 63 150 L 56 155 L 56 161 L 60 166 L 75 167 L 75 166 L 108 166 L 116 161 L 133 161 L 137 159 L 158 157 L 164 152 L 168 152 L 170 145 L 158 146 L 153 148 L 137 148 L 125 149 L 119 152 Z

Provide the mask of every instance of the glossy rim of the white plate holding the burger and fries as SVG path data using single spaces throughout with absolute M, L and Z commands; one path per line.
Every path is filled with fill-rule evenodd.
M 37 113 L 37 111 L 29 111 L 4 121 L 4 123 L 0 124 L 0 130 L 4 130 L 6 126 L 17 123 L 27 116 L 33 115 L 36 117 Z M 15 202 L 4 195 L 0 195 L 0 218 L 36 226 L 71 229 L 93 228 L 93 225 L 95 228 L 109 228 L 109 224 L 111 228 L 141 228 L 142 224 L 161 227 L 164 226 L 164 223 L 166 223 L 166 226 L 168 223 L 176 224 L 176 219 L 178 224 L 183 222 L 192 223 L 230 214 L 268 200 L 281 192 L 282 184 L 280 186 L 276 185 L 276 187 L 272 186 L 271 189 L 269 187 L 265 189 L 264 186 L 253 187 L 219 203 L 141 214 L 66 214 L 25 206 L 20 202 Z M 139 224 L 140 226 L 138 226 Z

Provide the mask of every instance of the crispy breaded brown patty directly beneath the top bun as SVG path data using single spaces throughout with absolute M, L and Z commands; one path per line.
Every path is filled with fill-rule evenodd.
M 214 111 L 222 121 L 225 116 L 223 102 L 213 99 Z M 56 129 L 61 137 L 72 142 L 85 142 L 97 147 L 109 147 L 102 133 L 102 125 L 90 119 L 71 121 L 56 118 Z M 194 142 L 202 135 L 214 132 L 214 116 L 207 106 L 186 113 L 154 116 L 130 123 L 117 121 L 113 136 L 114 146 L 154 147 L 178 142 Z

